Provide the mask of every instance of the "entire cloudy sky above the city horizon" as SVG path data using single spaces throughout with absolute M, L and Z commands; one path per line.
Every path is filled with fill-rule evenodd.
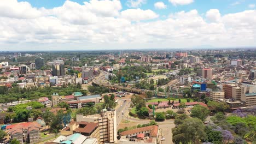
M 0 51 L 256 47 L 255 0 L 1 0 Z

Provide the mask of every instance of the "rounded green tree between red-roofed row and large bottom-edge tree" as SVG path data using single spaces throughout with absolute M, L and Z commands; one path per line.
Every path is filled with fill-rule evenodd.
M 197 117 L 205 122 L 206 117 L 210 114 L 210 111 L 205 106 L 196 105 L 191 110 L 191 117 Z

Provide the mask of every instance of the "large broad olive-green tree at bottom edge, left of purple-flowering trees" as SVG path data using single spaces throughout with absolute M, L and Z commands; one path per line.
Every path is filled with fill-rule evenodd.
M 174 143 L 200 143 L 206 138 L 205 125 L 198 118 L 188 118 L 172 130 Z

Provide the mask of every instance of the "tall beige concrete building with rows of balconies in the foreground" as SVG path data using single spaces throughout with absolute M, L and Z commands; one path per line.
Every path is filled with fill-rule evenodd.
M 100 115 L 77 114 L 77 122 L 94 122 L 100 128 L 100 143 L 117 142 L 117 115 L 115 110 L 102 110 Z

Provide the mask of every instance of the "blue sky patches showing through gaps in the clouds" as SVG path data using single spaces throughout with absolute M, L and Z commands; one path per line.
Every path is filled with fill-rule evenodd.
M 19 2 L 25 0 L 18 0 Z M 66 0 L 26 0 L 33 7 L 36 8 L 54 8 L 60 7 L 65 3 Z M 84 4 L 84 2 L 89 2 L 88 0 L 72 0 L 73 2 L 77 2 L 79 4 Z M 161 1 L 161 0 L 160 0 Z M 177 11 L 189 11 L 191 9 L 196 9 L 200 14 L 206 13 L 209 9 L 219 9 L 220 14 L 228 14 L 228 13 L 237 13 L 243 10 L 249 10 L 251 8 L 248 7 L 249 4 L 256 4 L 255 0 L 194 0 L 193 3 L 188 5 L 172 5 L 168 0 L 163 0 L 167 5 L 166 9 L 155 9 L 154 3 L 159 2 L 158 0 L 147 0 L 146 3 L 141 4 L 141 9 L 152 9 L 157 14 L 160 15 L 168 15 L 170 13 L 175 13 Z M 121 4 L 123 6 L 123 10 L 129 9 L 127 7 L 127 0 L 121 0 Z

